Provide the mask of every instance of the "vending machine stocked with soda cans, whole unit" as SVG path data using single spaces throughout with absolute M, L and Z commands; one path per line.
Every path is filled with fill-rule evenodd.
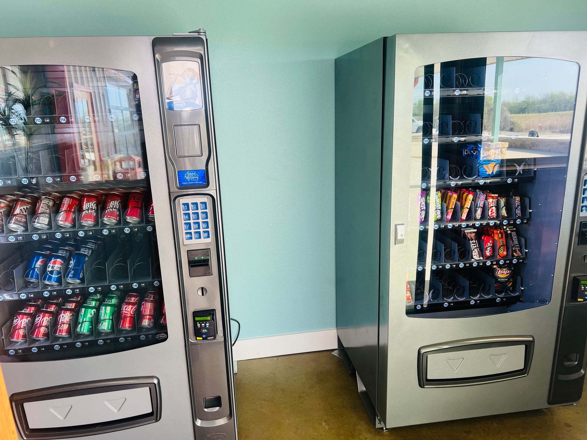
M 22 439 L 235 439 L 207 39 L 0 40 L 0 365 Z

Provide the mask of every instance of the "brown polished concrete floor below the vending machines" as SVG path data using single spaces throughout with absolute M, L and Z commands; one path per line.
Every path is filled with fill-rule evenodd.
M 238 363 L 240 440 L 585 440 L 587 393 L 575 407 L 394 428 L 373 428 L 342 360 L 330 352 Z

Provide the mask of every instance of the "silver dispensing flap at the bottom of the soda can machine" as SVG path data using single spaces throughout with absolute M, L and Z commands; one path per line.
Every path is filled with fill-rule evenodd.
M 31 429 L 107 423 L 153 411 L 149 387 L 25 402 Z

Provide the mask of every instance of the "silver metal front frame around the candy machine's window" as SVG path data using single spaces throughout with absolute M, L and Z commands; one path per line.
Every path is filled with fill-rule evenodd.
M 486 56 L 551 57 L 587 65 L 586 32 L 500 32 L 431 35 L 397 35 L 395 84 L 393 90 L 393 120 L 385 120 L 384 132 L 390 124 L 391 142 L 384 148 L 393 148 L 391 224 L 408 222 L 409 172 L 411 144 L 410 116 L 413 106 L 414 70 L 423 65 L 445 60 Z M 390 52 L 388 51 L 388 54 Z M 393 55 L 393 53 L 391 53 Z M 477 417 L 502 412 L 524 411 L 548 406 L 547 395 L 554 353 L 556 326 L 561 305 L 562 285 L 565 279 L 568 238 L 575 201 L 578 164 L 582 163 L 581 147 L 585 109 L 587 107 L 587 80 L 581 70 L 573 120 L 569 170 L 562 211 L 561 231 L 552 300 L 546 306 L 515 313 L 460 319 L 415 319 L 406 316 L 405 285 L 406 261 L 417 260 L 418 231 L 407 231 L 406 244 L 382 243 L 389 249 L 389 353 L 387 395 L 394 396 L 387 407 L 386 426 L 394 427 Z M 401 129 L 399 127 L 402 127 Z M 405 128 L 403 128 L 405 127 Z M 384 153 L 385 154 L 385 153 Z M 413 209 L 417 209 L 413 204 Z M 417 215 L 417 211 L 414 211 Z M 414 215 L 414 212 L 411 212 Z M 411 278 L 410 278 L 411 279 Z M 454 388 L 420 388 L 417 381 L 417 349 L 443 340 L 528 334 L 535 339 L 534 360 L 528 375 L 510 381 Z M 383 391 L 385 392 L 385 391 Z M 500 398 L 495 398 L 500 396 Z M 401 398 L 398 398 L 401 397 Z M 438 401 L 445 404 L 438 405 Z M 418 411 L 414 411 L 418 408 Z

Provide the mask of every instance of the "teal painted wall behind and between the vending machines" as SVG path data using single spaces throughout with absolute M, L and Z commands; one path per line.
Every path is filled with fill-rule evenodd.
M 3 2 L 0 36 L 208 31 L 246 338 L 335 326 L 335 57 L 393 33 L 582 30 L 586 16 L 585 0 L 31 0 Z

